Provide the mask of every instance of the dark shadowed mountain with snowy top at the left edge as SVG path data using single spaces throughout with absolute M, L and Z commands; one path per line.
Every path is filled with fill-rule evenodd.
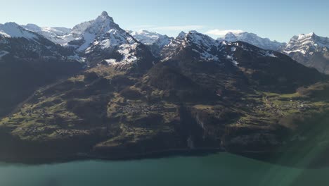
M 74 51 L 16 23 L 0 25 L 0 116 L 37 88 L 82 70 Z

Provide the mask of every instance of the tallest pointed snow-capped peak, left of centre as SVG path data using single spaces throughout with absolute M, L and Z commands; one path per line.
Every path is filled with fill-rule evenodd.
M 93 64 L 106 62 L 122 67 L 152 56 L 143 44 L 117 25 L 106 12 L 95 20 L 77 25 L 70 35 L 78 38 L 67 45 L 75 46 Z

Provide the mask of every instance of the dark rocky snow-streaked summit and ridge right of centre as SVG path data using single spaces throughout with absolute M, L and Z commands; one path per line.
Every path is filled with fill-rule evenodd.
M 233 66 L 238 66 L 240 60 L 245 60 L 238 57 L 241 51 L 252 53 L 253 58 L 277 57 L 273 51 L 251 46 L 239 42 L 221 42 L 196 31 L 181 32 L 172 42 L 164 46 L 161 57 L 162 61 L 190 59 L 228 63 Z

